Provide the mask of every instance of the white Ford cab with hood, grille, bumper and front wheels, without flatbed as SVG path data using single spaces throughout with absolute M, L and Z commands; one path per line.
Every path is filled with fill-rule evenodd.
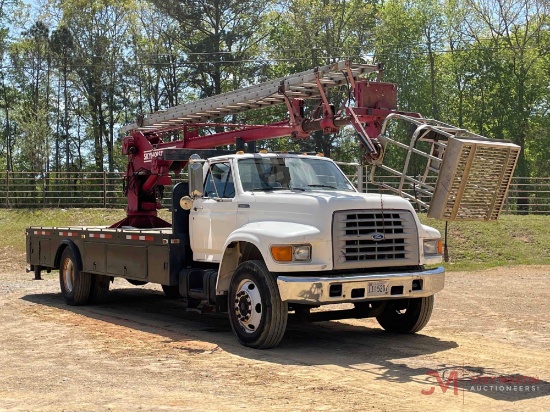
M 443 289 L 441 236 L 397 196 L 359 193 L 321 156 L 234 154 L 190 161 L 193 260 L 218 264 L 241 343 L 275 346 L 288 312 L 347 303 L 327 318 L 376 317 L 392 332 L 428 322 Z M 351 305 L 348 305 L 348 307 Z

